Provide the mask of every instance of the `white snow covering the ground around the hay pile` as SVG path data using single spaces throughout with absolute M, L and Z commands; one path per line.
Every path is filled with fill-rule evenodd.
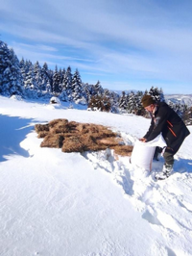
M 192 136 L 156 182 L 162 157 L 149 173 L 110 150 L 40 148 L 34 125 L 55 118 L 107 125 L 132 144 L 150 124 L 0 96 L 0 255 L 192 255 Z

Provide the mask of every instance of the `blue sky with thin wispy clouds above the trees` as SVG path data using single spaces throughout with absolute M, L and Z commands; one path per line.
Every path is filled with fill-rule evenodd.
M 1 0 L 0 39 L 84 83 L 192 93 L 191 13 L 191 0 Z

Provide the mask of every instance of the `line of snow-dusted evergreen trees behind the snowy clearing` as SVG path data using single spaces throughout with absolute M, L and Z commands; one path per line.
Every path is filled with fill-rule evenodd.
M 87 105 L 89 110 L 112 113 L 128 113 L 148 117 L 141 105 L 144 94 L 151 94 L 156 102 L 164 101 L 163 91 L 152 87 L 149 91 L 122 91 L 121 94 L 103 89 L 100 81 L 95 85 L 84 83 L 78 69 L 72 73 L 71 67 L 55 70 L 44 63 L 18 60 L 12 48 L 0 40 L 0 94 L 4 96 L 20 95 L 23 98 L 50 99 L 53 96 L 63 102 Z M 189 123 L 192 122 L 191 108 L 186 105 L 169 105 Z M 187 123 L 188 124 L 188 123 Z

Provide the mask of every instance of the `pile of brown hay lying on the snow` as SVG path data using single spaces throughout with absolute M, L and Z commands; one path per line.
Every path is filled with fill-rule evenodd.
M 91 123 L 78 123 L 55 119 L 47 124 L 36 124 L 41 147 L 61 148 L 62 152 L 98 151 L 107 148 L 122 156 L 132 154 L 132 146 L 124 145 L 122 138 L 108 127 Z

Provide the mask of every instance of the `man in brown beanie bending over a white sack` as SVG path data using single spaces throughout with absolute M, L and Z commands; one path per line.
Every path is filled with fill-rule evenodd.
M 163 153 L 164 165 L 162 172 L 156 174 L 156 179 L 168 178 L 173 170 L 174 155 L 178 152 L 181 143 L 190 134 L 180 116 L 174 112 L 165 102 L 156 103 L 151 95 L 145 94 L 141 103 L 146 111 L 152 116 L 151 126 L 146 135 L 140 141 L 153 141 L 162 133 L 167 143 Z

